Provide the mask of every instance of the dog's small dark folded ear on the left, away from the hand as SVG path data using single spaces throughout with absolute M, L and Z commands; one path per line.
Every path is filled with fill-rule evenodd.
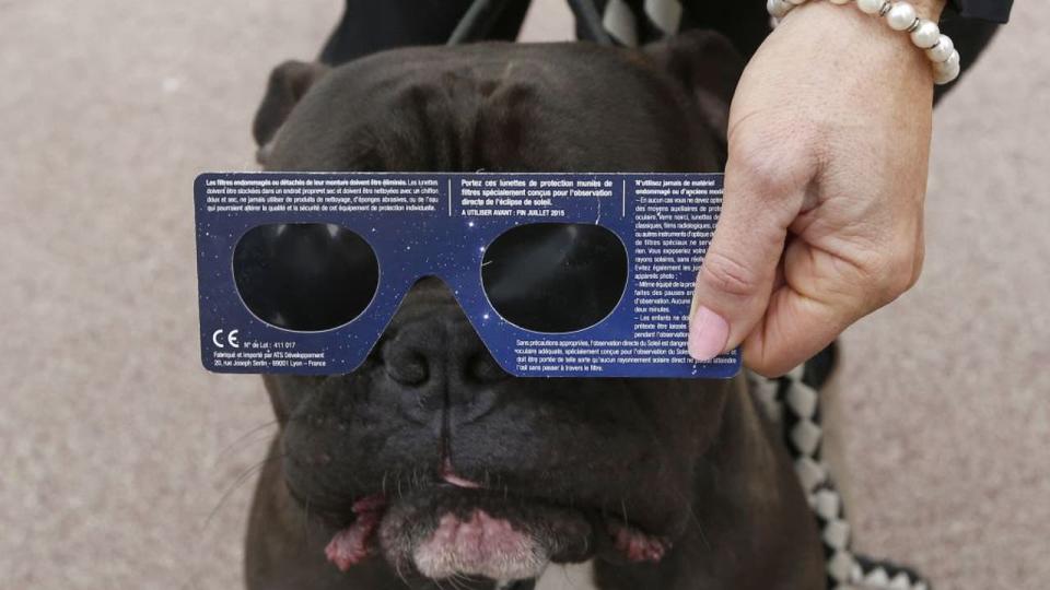
M 292 109 L 306 92 L 320 80 L 330 68 L 323 63 L 305 61 L 285 61 L 270 72 L 262 103 L 255 113 L 252 134 L 259 146 L 258 160 L 265 163 L 267 148 L 284 125 Z

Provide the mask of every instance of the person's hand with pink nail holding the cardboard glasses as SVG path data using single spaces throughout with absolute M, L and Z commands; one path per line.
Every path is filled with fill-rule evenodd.
M 913 2 L 936 21 L 944 0 Z M 930 61 L 855 7 L 808 2 L 744 71 L 689 352 L 783 374 L 919 278 Z

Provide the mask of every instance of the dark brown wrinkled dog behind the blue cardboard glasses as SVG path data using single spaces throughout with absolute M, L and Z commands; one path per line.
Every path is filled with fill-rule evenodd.
M 710 172 L 743 60 L 713 32 L 405 48 L 285 62 L 270 170 Z M 822 588 L 815 520 L 745 379 L 524 379 L 448 288 L 415 285 L 361 368 L 265 376 L 280 430 L 247 531 L 252 590 Z M 551 566 L 551 564 L 556 564 Z

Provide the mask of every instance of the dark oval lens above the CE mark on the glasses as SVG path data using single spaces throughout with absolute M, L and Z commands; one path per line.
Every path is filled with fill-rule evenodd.
M 338 225 L 260 225 L 233 252 L 241 298 L 259 319 L 296 331 L 342 326 L 372 302 L 380 264 L 369 243 Z

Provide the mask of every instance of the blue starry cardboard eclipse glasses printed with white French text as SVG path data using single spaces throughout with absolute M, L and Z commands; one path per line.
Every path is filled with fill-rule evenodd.
M 355 369 L 421 278 L 521 377 L 728 377 L 686 352 L 721 204 L 703 174 L 203 174 L 201 353 L 220 373 Z

